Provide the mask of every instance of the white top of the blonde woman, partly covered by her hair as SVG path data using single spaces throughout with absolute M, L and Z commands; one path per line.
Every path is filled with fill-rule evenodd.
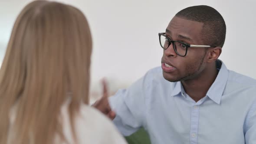
M 15 118 L 15 113 L 13 112 L 14 111 L 11 111 L 11 123 Z M 68 102 L 62 106 L 61 114 L 63 134 L 66 136 L 66 140 L 69 144 L 74 144 L 71 125 L 69 123 Z M 79 114 L 80 115 L 75 119 L 77 144 L 127 144 L 112 121 L 95 108 L 88 105 L 81 105 Z M 58 139 L 59 137 L 56 136 L 56 141 L 58 141 Z M 58 142 L 56 142 L 56 144 L 58 144 Z

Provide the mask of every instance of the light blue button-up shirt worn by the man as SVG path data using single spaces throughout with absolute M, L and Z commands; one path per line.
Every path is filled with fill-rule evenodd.
M 181 82 L 165 80 L 161 67 L 109 101 L 121 134 L 144 127 L 152 144 L 256 144 L 256 80 L 228 70 L 224 63 L 197 102 Z

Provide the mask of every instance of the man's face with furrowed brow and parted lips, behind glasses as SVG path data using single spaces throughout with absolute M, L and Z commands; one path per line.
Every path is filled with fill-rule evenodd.
M 205 45 L 202 40 L 202 29 L 203 23 L 174 16 L 167 26 L 165 34 L 171 40 Z M 161 59 L 164 79 L 170 82 L 196 79 L 205 68 L 205 56 L 205 48 L 188 48 L 186 56 L 179 56 L 171 44 L 168 49 L 164 49 Z

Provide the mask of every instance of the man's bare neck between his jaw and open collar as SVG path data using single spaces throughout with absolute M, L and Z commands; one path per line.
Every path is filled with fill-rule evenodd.
M 187 95 L 189 95 L 190 98 L 197 102 L 206 96 L 217 75 L 218 71 L 214 65 L 209 69 L 206 69 L 206 71 L 203 72 L 202 75 L 200 75 L 200 77 L 197 79 L 185 80 L 181 83 Z

